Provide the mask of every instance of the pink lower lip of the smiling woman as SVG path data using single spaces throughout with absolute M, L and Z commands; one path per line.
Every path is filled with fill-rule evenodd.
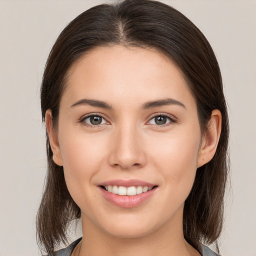
M 119 195 L 119 194 L 108 192 L 107 190 L 105 190 L 100 186 L 99 188 L 102 194 L 104 195 L 104 197 L 109 202 L 123 208 L 131 208 L 131 207 L 140 205 L 145 200 L 147 200 L 150 196 L 152 196 L 156 189 L 156 187 L 154 187 L 147 192 L 143 192 L 141 194 L 135 194 L 135 195 Z

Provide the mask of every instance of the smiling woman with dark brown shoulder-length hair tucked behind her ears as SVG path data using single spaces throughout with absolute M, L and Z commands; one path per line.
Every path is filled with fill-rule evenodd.
M 48 172 L 38 243 L 54 255 L 216 255 L 228 171 L 221 75 L 203 34 L 157 1 L 84 11 L 41 86 Z

